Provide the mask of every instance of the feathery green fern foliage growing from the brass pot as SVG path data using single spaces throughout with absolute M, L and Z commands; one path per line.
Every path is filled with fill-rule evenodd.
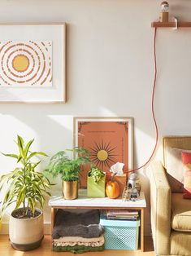
M 68 157 L 67 151 L 73 152 L 76 157 Z M 63 181 L 78 180 L 80 166 L 91 163 L 89 157 L 89 151 L 85 148 L 72 148 L 57 152 L 51 157 L 45 173 L 52 174 L 53 177 L 60 174 Z

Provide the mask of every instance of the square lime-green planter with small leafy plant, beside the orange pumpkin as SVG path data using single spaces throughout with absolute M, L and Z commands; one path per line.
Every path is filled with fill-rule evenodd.
M 96 166 L 88 172 L 87 195 L 88 197 L 105 197 L 106 174 Z

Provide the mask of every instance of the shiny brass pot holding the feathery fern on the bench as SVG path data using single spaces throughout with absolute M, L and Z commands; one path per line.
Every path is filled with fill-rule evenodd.
M 78 180 L 63 181 L 63 197 L 67 200 L 73 200 L 78 197 Z

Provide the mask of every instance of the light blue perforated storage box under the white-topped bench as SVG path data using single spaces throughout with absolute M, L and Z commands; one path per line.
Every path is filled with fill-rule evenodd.
M 105 249 L 137 249 L 140 220 L 108 220 L 101 216 L 104 226 Z

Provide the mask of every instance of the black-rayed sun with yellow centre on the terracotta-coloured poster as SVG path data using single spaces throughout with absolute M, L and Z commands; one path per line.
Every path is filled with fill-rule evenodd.
M 94 142 L 93 147 L 89 148 L 93 163 L 102 170 L 110 168 L 116 162 L 115 157 L 118 156 L 115 155 L 115 148 L 111 146 L 110 142 L 106 143 L 103 140 L 101 143 Z

